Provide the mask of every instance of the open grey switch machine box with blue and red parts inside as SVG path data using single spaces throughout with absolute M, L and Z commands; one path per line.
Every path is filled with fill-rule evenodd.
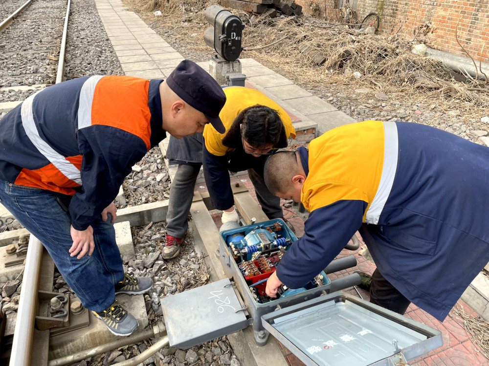
M 265 293 L 267 280 L 296 240 L 297 237 L 280 218 L 244 226 L 226 222 L 221 227 L 219 259 L 224 273 L 233 280 L 243 299 L 243 309 L 253 318 L 253 335 L 258 345 L 267 343 L 268 332 L 261 321 L 263 315 L 360 283 L 356 273 L 333 280 L 327 276 L 354 267 L 355 256 L 347 256 L 334 259 L 304 287 L 290 289 L 281 286 L 276 298 L 268 297 Z

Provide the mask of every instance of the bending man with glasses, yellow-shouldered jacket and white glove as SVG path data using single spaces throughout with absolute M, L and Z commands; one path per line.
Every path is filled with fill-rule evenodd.
M 222 210 L 222 222 L 238 221 L 229 171 L 248 171 L 258 202 L 268 218 L 283 217 L 280 198 L 268 191 L 263 180 L 265 161 L 276 149 L 285 148 L 295 130 L 287 112 L 258 90 L 241 86 L 224 89 L 226 104 L 219 114 L 225 127 L 220 133 L 204 128 L 202 134 L 170 139 L 166 157 L 178 170 L 170 188 L 166 245 L 163 258 L 180 253 L 188 224 L 195 183 L 203 164 L 207 190 L 214 207 Z

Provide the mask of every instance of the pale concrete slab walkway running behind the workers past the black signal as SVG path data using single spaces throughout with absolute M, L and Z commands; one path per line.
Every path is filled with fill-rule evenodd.
M 184 57 L 149 28 L 120 0 L 95 0 L 107 34 L 126 75 L 147 79 L 166 78 Z M 210 52 L 209 52 L 210 55 Z M 318 128 L 319 133 L 355 122 L 289 79 L 253 59 L 241 59 L 242 71 L 251 86 L 261 90 L 298 117 L 297 129 Z M 208 62 L 198 63 L 205 70 Z

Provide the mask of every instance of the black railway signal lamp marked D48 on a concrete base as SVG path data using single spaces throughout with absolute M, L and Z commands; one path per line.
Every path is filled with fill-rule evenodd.
M 243 50 L 241 37 L 244 24 L 241 19 L 219 5 L 209 6 L 204 17 L 212 25 L 204 32 L 205 43 L 224 60 L 236 61 Z

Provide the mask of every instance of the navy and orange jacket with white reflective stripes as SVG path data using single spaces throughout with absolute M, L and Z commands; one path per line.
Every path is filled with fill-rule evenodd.
M 73 195 L 73 227 L 86 229 L 165 137 L 160 83 L 87 76 L 31 95 L 0 120 L 0 179 Z

